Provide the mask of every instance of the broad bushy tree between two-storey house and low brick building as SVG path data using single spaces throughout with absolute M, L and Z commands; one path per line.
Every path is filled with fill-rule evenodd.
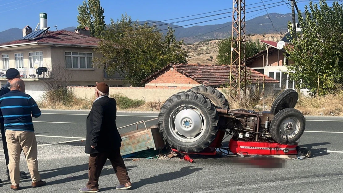
M 142 86 L 141 81 L 169 63 L 186 63 L 187 53 L 181 49 L 183 41 L 177 41 L 174 30 L 168 28 L 166 36 L 150 27 L 132 22 L 127 14 L 108 27 L 104 40 L 96 52 L 103 55 L 94 58 L 97 65 L 107 65 L 108 74 L 123 72 L 132 86 Z

